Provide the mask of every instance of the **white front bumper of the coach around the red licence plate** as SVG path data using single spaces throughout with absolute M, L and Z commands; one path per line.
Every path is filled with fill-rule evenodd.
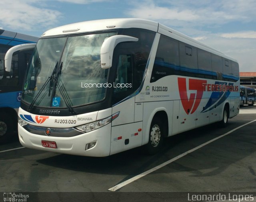
M 28 132 L 18 124 L 18 134 L 20 143 L 24 147 L 31 149 L 80 156 L 109 156 L 110 154 L 111 123 L 94 131 L 82 133 L 74 137 L 36 135 Z M 42 140 L 56 142 L 57 148 L 43 147 Z M 96 145 L 85 151 L 86 144 L 92 142 L 96 142 Z

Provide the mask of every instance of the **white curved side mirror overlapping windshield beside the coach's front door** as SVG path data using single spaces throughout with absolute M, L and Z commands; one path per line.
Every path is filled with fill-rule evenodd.
M 138 38 L 126 35 L 115 35 L 107 38 L 100 49 L 100 62 L 102 69 L 108 69 L 112 66 L 114 48 L 121 42 L 138 42 Z

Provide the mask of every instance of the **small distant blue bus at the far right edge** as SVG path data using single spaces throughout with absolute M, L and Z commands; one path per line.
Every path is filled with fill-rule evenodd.
M 240 105 L 254 105 L 255 89 L 240 85 Z

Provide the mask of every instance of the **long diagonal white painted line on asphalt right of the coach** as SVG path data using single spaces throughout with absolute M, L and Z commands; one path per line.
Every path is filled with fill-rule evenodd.
M 254 120 L 254 121 L 256 121 L 256 120 Z M 124 181 L 124 182 L 121 182 L 120 184 L 117 184 L 116 186 L 113 186 L 112 188 L 109 188 L 108 190 L 116 191 L 116 190 L 122 188 L 123 186 L 126 186 L 127 184 L 130 184 L 131 182 L 133 182 L 135 180 L 138 180 L 139 178 L 142 178 L 143 176 L 145 176 L 147 174 L 150 174 L 151 172 L 154 172 L 154 171 L 158 170 L 159 168 L 162 168 L 162 167 L 166 166 L 167 164 L 169 164 L 171 162 L 174 162 L 175 160 L 177 160 L 181 157 L 186 156 L 187 154 L 190 154 L 191 152 L 194 152 L 197 149 L 200 149 L 201 147 L 204 147 L 205 145 L 208 145 L 208 144 L 210 144 L 210 143 L 212 143 L 212 142 L 214 142 L 214 141 L 216 141 L 216 140 L 218 140 L 218 139 L 220 139 L 220 138 L 222 138 L 222 137 L 224 137 L 224 136 L 226 136 L 226 135 L 228 135 L 228 134 L 230 134 L 230 133 L 232 133 L 232 132 L 234 132 L 234 131 L 236 131 L 236 130 L 238 130 L 238 129 L 240 129 L 240 128 L 248 125 L 248 124 L 250 124 L 250 123 L 253 123 L 254 121 L 250 121 L 249 123 L 241 125 L 241 126 L 235 128 L 235 129 L 231 130 L 231 131 L 228 131 L 227 133 L 225 133 L 223 135 L 220 135 L 219 137 L 216 137 L 216 138 L 214 138 L 214 139 L 212 139 L 212 140 L 210 140 L 206 143 L 203 143 L 202 145 L 199 145 L 198 147 L 195 147 L 194 149 L 190 149 L 189 151 L 186 151 L 186 152 L 184 152 L 184 153 L 182 153 L 182 154 L 180 154 L 180 155 L 178 155 L 178 156 L 176 156 L 176 157 L 174 157 L 174 158 L 172 158 L 172 159 L 170 159 L 170 160 L 168 160 L 168 161 L 166 161 L 166 162 L 164 162 L 164 163 L 162 163 L 162 164 L 160 164 L 160 165 L 158 165 L 154 168 L 151 168 L 150 170 L 142 172 L 141 174 L 138 174 L 137 176 L 134 176 L 134 177 L 132 177 L 132 178 L 130 178 L 130 179 Z

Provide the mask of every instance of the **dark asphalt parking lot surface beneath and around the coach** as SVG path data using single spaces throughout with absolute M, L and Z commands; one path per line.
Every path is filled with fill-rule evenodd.
M 16 140 L 0 145 L 0 192 L 256 193 L 256 105 L 241 107 L 226 128 L 170 137 L 154 156 L 141 150 L 94 158 L 27 149 Z

